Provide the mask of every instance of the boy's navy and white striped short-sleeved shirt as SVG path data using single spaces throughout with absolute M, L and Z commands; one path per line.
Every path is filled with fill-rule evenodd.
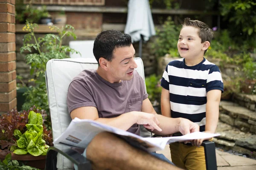
M 217 65 L 203 59 L 198 65 L 187 66 L 185 59 L 169 62 L 161 86 L 170 92 L 171 115 L 197 123 L 205 130 L 207 92 L 223 92 L 223 81 Z

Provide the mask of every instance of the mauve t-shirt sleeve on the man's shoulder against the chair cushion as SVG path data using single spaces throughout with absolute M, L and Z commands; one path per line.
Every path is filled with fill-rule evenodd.
M 80 80 L 74 80 L 70 83 L 67 91 L 67 106 L 69 113 L 76 108 L 86 106 L 96 107 L 93 95 L 86 83 Z

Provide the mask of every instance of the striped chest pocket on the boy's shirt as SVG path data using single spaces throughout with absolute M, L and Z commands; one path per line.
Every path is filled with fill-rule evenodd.
M 188 93 L 187 93 L 188 100 L 195 100 L 195 101 L 205 101 L 206 100 L 206 83 L 200 82 L 189 82 Z

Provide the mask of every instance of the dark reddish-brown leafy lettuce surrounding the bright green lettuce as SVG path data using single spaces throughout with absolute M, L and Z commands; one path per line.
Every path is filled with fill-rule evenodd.
M 0 116 L 0 155 L 5 156 L 6 154 L 10 153 L 15 149 L 14 146 L 17 146 L 17 139 L 14 134 L 17 134 L 18 131 L 22 134 L 25 133 L 26 130 L 28 130 L 27 124 L 29 124 L 29 113 L 31 111 L 36 112 L 38 115 L 40 114 L 42 116 L 41 120 L 45 122 L 45 119 L 47 117 L 46 111 L 39 110 L 35 108 L 35 106 L 29 108 L 29 110 L 27 111 L 24 110 L 21 112 L 12 109 L 8 113 L 4 113 Z M 42 128 L 42 138 L 46 141 L 47 145 L 52 146 L 51 130 L 47 130 L 45 124 L 43 124 Z

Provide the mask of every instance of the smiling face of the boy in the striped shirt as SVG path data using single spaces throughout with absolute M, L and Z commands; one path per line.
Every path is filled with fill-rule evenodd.
M 180 30 L 177 48 L 180 56 L 186 59 L 198 59 L 204 56 L 204 42 L 198 35 L 198 28 L 185 26 Z

